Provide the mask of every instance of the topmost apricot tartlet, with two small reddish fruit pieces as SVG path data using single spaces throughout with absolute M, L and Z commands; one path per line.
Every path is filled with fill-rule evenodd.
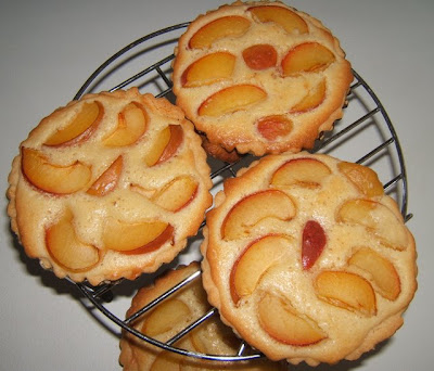
M 175 54 L 177 105 L 221 159 L 310 149 L 342 117 L 353 80 L 336 37 L 279 1 L 200 15 Z

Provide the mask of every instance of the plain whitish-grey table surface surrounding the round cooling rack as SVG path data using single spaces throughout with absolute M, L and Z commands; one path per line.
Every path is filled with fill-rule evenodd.
M 409 182 L 408 222 L 419 251 L 419 290 L 405 324 L 357 362 L 317 370 L 429 370 L 433 357 L 434 2 L 297 0 L 341 39 L 354 68 L 385 106 Z M 0 12 L 2 192 L 18 144 L 67 103 L 87 77 L 127 43 L 190 21 L 219 0 L 22 0 Z M 72 284 L 43 271 L 14 244 L 1 199 L 0 370 L 120 370 L 118 338 Z M 97 318 L 95 318 L 97 317 Z M 293 370 L 307 370 L 299 366 Z

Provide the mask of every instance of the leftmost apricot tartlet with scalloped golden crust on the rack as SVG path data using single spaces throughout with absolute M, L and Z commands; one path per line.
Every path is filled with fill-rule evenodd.
M 27 255 L 91 284 L 173 260 L 212 204 L 193 126 L 136 88 L 87 94 L 43 118 L 9 183 L 12 230 Z

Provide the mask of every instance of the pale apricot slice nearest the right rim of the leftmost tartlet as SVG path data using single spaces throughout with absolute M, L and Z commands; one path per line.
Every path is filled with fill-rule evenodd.
M 178 177 L 157 191 L 152 201 L 166 210 L 177 213 L 193 201 L 197 186 L 191 177 Z

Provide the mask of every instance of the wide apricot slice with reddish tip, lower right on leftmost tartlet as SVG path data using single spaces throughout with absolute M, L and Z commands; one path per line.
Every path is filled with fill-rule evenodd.
M 126 222 L 115 218 L 107 218 L 102 235 L 104 247 L 117 252 L 152 251 L 159 247 L 159 245 L 152 246 L 153 248 L 149 250 L 145 247 L 151 246 L 152 242 L 165 234 L 168 228 L 169 225 L 167 222 L 159 220 Z

